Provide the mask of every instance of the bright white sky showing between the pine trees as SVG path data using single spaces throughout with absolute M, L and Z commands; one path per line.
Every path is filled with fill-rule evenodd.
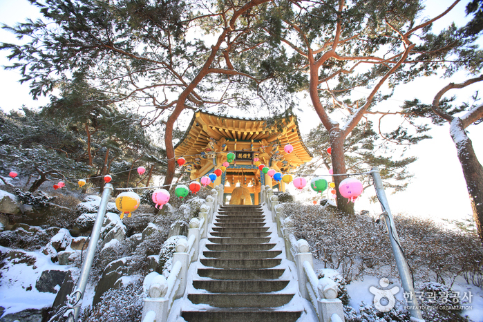
M 429 17 L 435 12 L 442 12 L 452 1 L 430 0 L 425 2 L 424 15 Z M 450 21 L 455 21 L 458 26 L 466 23 L 464 7 L 467 1 L 462 1 L 453 10 L 451 15 L 434 24 L 433 30 L 447 26 Z M 27 0 L 0 0 L 0 23 L 12 25 L 24 21 L 26 18 L 36 19 L 39 17 L 37 8 Z M 6 30 L 0 30 L 0 42 L 16 41 L 15 37 Z M 8 64 L 7 52 L 0 52 L 0 65 Z M 401 105 L 404 100 L 418 97 L 422 102 L 430 103 L 434 95 L 444 86 L 451 82 L 462 82 L 466 75 L 457 73 L 451 79 L 440 77 L 424 77 L 411 84 L 399 86 L 395 95 L 386 104 Z M 48 98 L 34 101 L 29 95 L 28 84 L 19 84 L 20 75 L 16 70 L 0 69 L 0 108 L 3 111 L 20 108 L 22 104 L 28 107 L 42 106 L 48 103 Z M 458 100 L 463 102 L 475 91 L 481 88 L 481 84 L 474 84 L 465 90 L 451 91 L 449 95 L 457 95 Z M 368 91 L 368 90 L 367 90 Z M 361 93 L 363 94 L 363 93 Z M 313 111 L 310 102 L 301 102 L 303 113 L 297 115 L 303 134 L 314 128 L 319 118 Z M 190 117 L 191 119 L 191 117 Z M 188 121 L 189 122 L 189 121 Z M 473 147 L 483 161 L 483 124 L 468 127 Z M 415 173 L 415 177 L 406 191 L 395 195 L 388 194 L 389 205 L 393 214 L 411 214 L 424 218 L 441 220 L 442 218 L 458 219 L 471 214 L 471 207 L 466 192 L 466 184 L 462 175 L 462 169 L 456 156 L 456 149 L 448 133 L 448 125 L 434 128 L 430 135 L 431 140 L 425 140 L 415 146 L 411 146 L 404 156 L 417 156 L 418 160 L 410 164 L 408 170 Z M 368 191 L 373 194 L 373 191 Z M 368 198 L 362 196 L 356 202 L 356 209 L 367 209 L 373 214 L 381 212 L 379 205 L 370 204 Z

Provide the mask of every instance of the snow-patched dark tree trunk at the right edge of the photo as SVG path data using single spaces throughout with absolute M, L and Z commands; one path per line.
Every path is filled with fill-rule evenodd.
M 451 122 L 451 138 L 455 142 L 458 159 L 463 169 L 466 189 L 470 197 L 473 218 L 480 240 L 483 243 L 483 167 L 478 161 L 473 143 L 471 142 L 460 118 L 455 117 Z

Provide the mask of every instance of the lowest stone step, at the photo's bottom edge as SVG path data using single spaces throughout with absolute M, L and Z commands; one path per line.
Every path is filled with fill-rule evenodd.
M 187 322 L 295 322 L 301 311 L 275 311 L 272 309 L 236 309 L 211 307 L 203 311 L 184 311 Z

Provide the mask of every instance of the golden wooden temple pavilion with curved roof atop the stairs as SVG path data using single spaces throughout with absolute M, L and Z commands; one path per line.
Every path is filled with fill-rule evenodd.
M 286 144 L 292 144 L 292 153 L 285 153 Z M 186 160 L 184 167 L 190 172 L 191 180 L 200 180 L 222 167 L 229 152 L 235 153 L 235 160 L 210 185 L 223 184 L 224 203 L 230 200 L 235 205 L 258 205 L 262 184 L 274 191 L 285 191 L 285 182 L 276 182 L 259 170 L 254 164 L 255 158 L 281 173 L 293 173 L 301 164 L 312 160 L 294 115 L 268 124 L 263 119 L 196 111 L 184 137 L 175 146 L 176 159 Z M 243 196 L 247 193 L 251 198 Z

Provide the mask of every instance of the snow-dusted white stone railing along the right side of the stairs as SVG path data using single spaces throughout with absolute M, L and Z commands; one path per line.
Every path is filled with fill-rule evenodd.
M 319 322 L 345 321 L 342 301 L 337 299 L 337 284 L 328 277 L 317 278 L 307 240 L 296 240 L 292 229 L 287 227 L 290 224 L 283 224 L 283 207 L 279 205 L 280 202 L 274 195 L 274 191 L 268 187 L 262 187 L 261 191 L 262 203 L 266 202 L 268 209 L 272 211 L 272 219 L 276 222 L 278 236 L 285 242 L 287 259 L 296 265 L 301 295 L 312 302 L 314 310 L 319 316 Z

